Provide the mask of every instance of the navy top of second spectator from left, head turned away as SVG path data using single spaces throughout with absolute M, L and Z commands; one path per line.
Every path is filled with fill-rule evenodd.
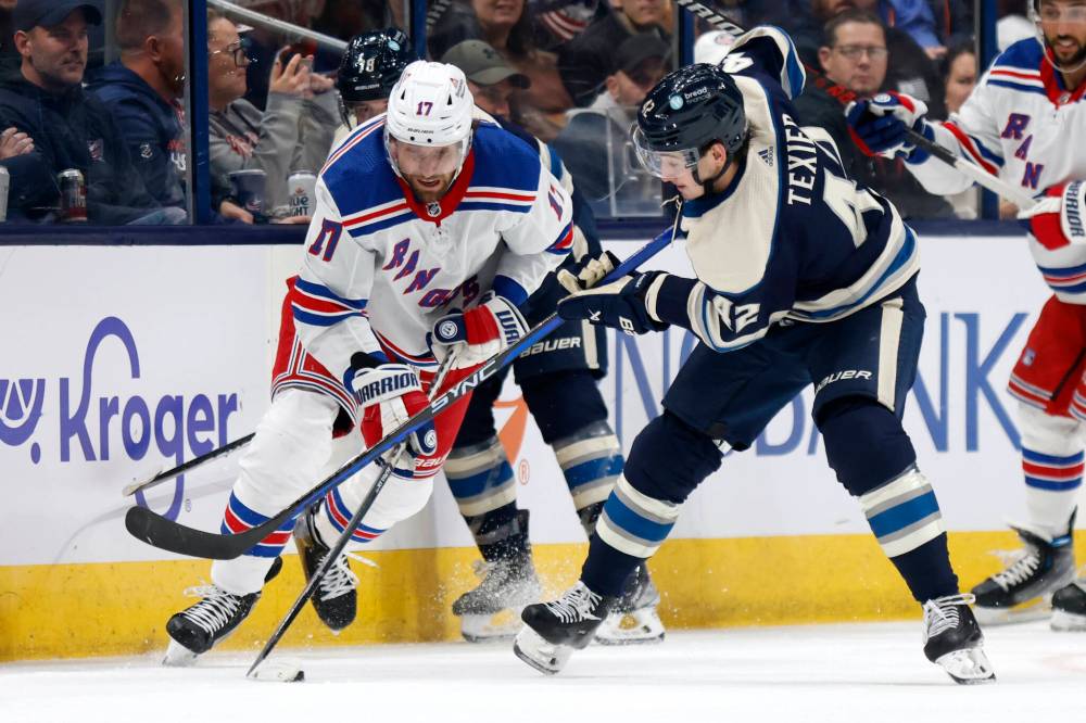
M 94 93 L 121 127 L 128 156 L 148 192 L 163 206 L 185 207 L 185 131 L 175 107 L 119 62 L 90 75 Z

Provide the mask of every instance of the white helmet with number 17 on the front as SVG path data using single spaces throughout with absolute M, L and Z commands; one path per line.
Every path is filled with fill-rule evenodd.
M 404 68 L 389 96 L 386 145 L 390 137 L 422 147 L 459 143 L 463 163 L 471 145 L 473 107 L 475 99 L 463 71 L 445 63 L 415 61 Z M 389 158 L 395 167 L 391 152 Z

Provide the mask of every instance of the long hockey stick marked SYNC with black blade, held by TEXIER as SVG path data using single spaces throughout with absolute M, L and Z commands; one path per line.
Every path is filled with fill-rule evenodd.
M 664 231 L 655 239 L 639 249 L 632 256 L 611 271 L 607 279 L 614 280 L 637 268 L 648 258 L 657 254 L 668 245 L 675 236 L 675 226 Z M 528 334 L 516 344 L 509 346 L 500 354 L 493 356 L 479 369 L 468 377 L 458 381 L 452 389 L 437 397 L 430 406 L 417 413 L 406 422 L 397 427 L 376 445 L 346 461 L 330 477 L 323 480 L 313 490 L 295 499 L 289 507 L 280 511 L 261 524 L 238 534 L 218 534 L 205 532 L 186 527 L 174 520 L 166 519 L 162 515 L 154 512 L 147 507 L 136 506 L 128 509 L 125 516 L 125 528 L 137 540 L 142 540 L 149 545 L 178 555 L 190 557 L 203 557 L 213 560 L 230 560 L 239 555 L 252 549 L 257 543 L 270 533 L 278 530 L 283 523 L 293 519 L 298 513 L 313 504 L 323 494 L 332 487 L 341 484 L 344 480 L 357 472 L 359 469 L 374 461 L 379 455 L 388 452 L 393 446 L 403 442 L 408 434 L 420 426 L 433 419 L 442 409 L 456 402 L 476 386 L 494 376 L 498 369 L 512 363 L 517 355 L 540 341 L 552 331 L 561 326 L 563 320 L 556 314 L 552 314 L 546 319 L 536 325 Z

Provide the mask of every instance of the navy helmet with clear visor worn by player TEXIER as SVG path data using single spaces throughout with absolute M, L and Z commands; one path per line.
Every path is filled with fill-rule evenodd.
M 656 84 L 641 110 L 633 132 L 642 165 L 655 176 L 675 162 L 697 165 L 715 142 L 723 144 L 729 163 L 747 138 L 743 94 L 735 80 L 716 65 L 695 63 L 669 73 Z M 670 158 L 670 161 L 668 161 Z

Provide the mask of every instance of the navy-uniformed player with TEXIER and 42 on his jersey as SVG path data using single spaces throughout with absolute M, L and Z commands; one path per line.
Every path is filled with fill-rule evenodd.
M 796 124 L 791 99 L 804 81 L 788 37 L 760 27 L 722 67 L 666 77 L 640 110 L 639 156 L 686 200 L 696 278 L 636 274 L 574 293 L 558 313 L 628 333 L 677 325 L 700 343 L 634 440 L 580 580 L 522 613 L 515 651 L 544 673 L 588 645 L 722 451 L 749 447 L 813 383 L 826 458 L 923 609 L 924 655 L 957 682 L 994 680 L 901 428 L 924 325 L 917 239 L 844 175 L 826 134 Z

